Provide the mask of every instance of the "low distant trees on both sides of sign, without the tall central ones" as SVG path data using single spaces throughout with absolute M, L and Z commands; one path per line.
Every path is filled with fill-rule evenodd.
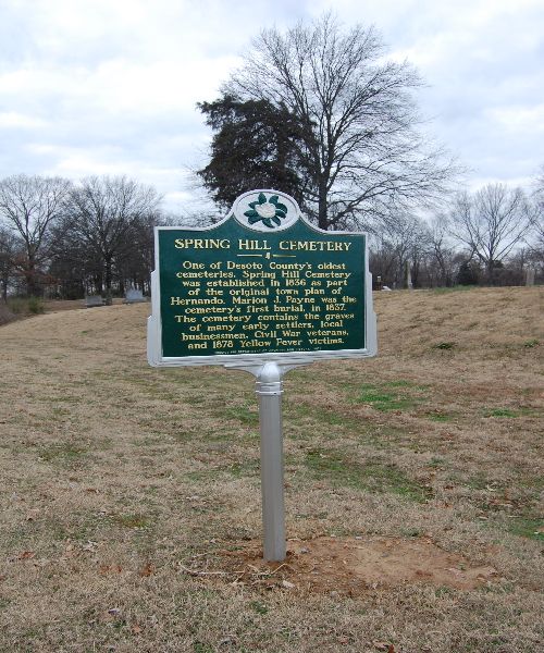
M 0 294 L 107 299 L 131 287 L 149 294 L 153 227 L 180 223 L 151 187 L 125 176 L 13 175 L 0 181 Z M 198 223 L 198 217 L 194 217 Z M 201 223 L 202 224 L 202 223 Z M 407 210 L 374 222 L 370 269 L 403 287 L 522 285 L 544 272 L 544 173 L 536 192 L 490 184 L 452 198 L 430 220 Z

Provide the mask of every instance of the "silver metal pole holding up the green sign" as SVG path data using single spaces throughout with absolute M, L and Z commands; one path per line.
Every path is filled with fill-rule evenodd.
M 283 496 L 282 371 L 267 362 L 256 382 L 261 430 L 261 493 L 264 559 L 285 559 Z

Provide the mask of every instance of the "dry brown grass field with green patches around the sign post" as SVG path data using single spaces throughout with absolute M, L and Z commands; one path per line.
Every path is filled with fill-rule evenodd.
M 147 305 L 0 328 L 0 651 L 541 650 L 543 299 L 381 293 L 287 374 L 282 566 L 248 374 L 149 368 Z

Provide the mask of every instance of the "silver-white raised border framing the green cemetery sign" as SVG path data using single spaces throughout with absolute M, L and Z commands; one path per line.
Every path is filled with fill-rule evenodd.
M 369 358 L 378 354 L 378 335 L 376 335 L 376 318 L 372 305 L 372 275 L 369 271 L 368 257 L 368 237 L 364 238 L 364 342 L 367 347 L 363 349 L 333 349 L 333 350 L 317 350 L 317 352 L 282 352 L 282 353 L 261 353 L 261 354 L 221 354 L 213 356 L 162 356 L 162 322 L 161 322 L 161 287 L 159 278 L 159 232 L 160 231 L 194 231 L 206 233 L 217 229 L 230 220 L 233 215 L 237 222 L 262 232 L 261 226 L 247 224 L 246 218 L 240 219 L 239 214 L 244 214 L 247 210 L 250 196 L 258 196 L 260 193 L 265 195 L 277 195 L 283 200 L 288 201 L 296 210 L 296 219 L 289 220 L 287 226 L 274 229 L 274 232 L 282 231 L 288 226 L 293 226 L 298 220 L 301 220 L 308 227 L 318 234 L 323 235 L 342 235 L 342 236 L 361 236 L 366 235 L 360 232 L 339 232 L 324 231 L 308 222 L 298 209 L 297 202 L 285 193 L 273 189 L 259 189 L 245 193 L 236 199 L 233 209 L 227 213 L 226 218 L 221 222 L 207 227 L 185 227 L 185 226 L 156 226 L 154 227 L 154 271 L 151 273 L 151 316 L 147 321 L 147 359 L 152 367 L 189 367 L 189 366 L 206 366 L 206 365 L 222 365 L 228 368 L 240 368 L 252 370 L 257 367 L 262 367 L 267 362 L 276 362 L 282 367 L 297 367 L 300 365 L 309 365 L 317 360 L 334 360 L 342 358 Z M 287 206 L 289 206 L 287 205 Z M 242 211 L 242 213 L 240 213 Z M 287 212 L 288 215 L 288 212 Z M 268 227 L 264 227 L 270 231 Z

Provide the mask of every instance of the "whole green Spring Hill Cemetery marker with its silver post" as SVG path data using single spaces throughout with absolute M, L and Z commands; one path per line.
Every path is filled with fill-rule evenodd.
M 264 558 L 283 560 L 282 378 L 375 356 L 367 236 L 318 230 L 288 195 L 252 190 L 210 227 L 156 227 L 154 252 L 148 361 L 256 377 Z

